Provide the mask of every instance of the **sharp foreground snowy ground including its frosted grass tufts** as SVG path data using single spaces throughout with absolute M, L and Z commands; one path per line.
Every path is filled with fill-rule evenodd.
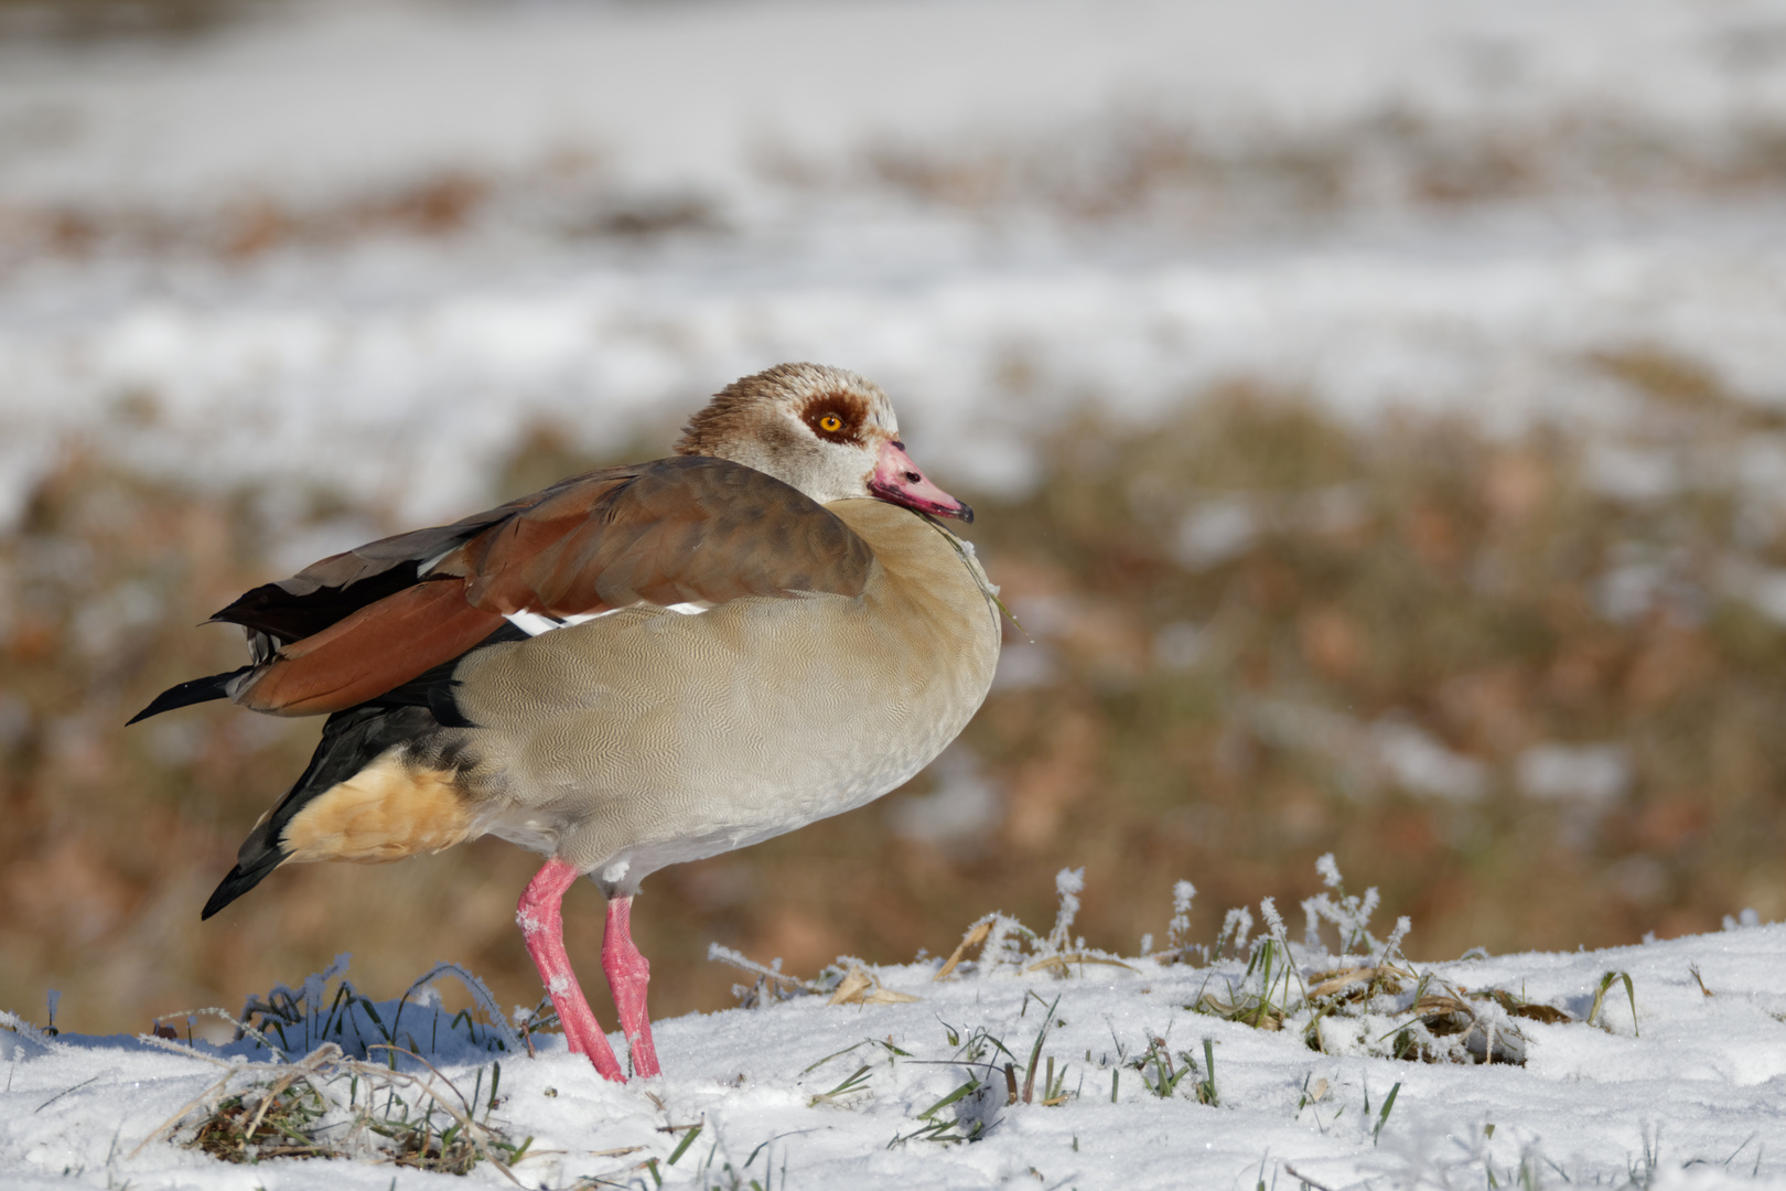
M 613 1086 L 534 1011 L 343 968 L 238 1037 L 50 1034 L 7 1014 L 14 1186 L 525 1187 L 1773 1186 L 1781 927 L 1607 954 L 1415 962 L 1325 861 L 1302 939 L 1275 904 L 1107 954 L 975 921 L 947 955 L 813 977 L 718 950 L 741 1005 L 661 1023 L 666 1075 Z M 525 1027 L 525 1029 L 523 1029 Z M 523 1037 L 530 1039 L 532 1054 Z M 243 1162 L 252 1170 L 243 1171 Z M 241 1175 L 230 1171 L 243 1171 Z

